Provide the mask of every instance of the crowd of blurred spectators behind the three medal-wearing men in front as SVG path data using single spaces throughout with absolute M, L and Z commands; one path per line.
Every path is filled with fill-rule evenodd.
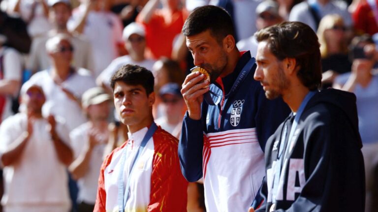
M 190 11 L 207 4 L 229 12 L 239 51 L 252 56 L 261 28 L 299 21 L 317 32 L 323 89 L 357 96 L 366 211 L 376 210 L 378 0 L 0 0 L 6 211 L 93 211 L 102 159 L 127 139 L 111 104 L 110 78 L 122 65 L 153 72 L 154 118 L 180 136 L 180 89 L 193 66 L 181 30 Z M 202 192 L 189 185 L 188 211 L 205 211 Z

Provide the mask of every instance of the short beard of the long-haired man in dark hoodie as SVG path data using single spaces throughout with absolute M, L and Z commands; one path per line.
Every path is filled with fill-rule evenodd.
M 265 91 L 265 96 L 269 100 L 274 100 L 278 97 L 282 97 L 283 90 L 290 86 L 290 81 L 286 78 L 284 74 L 284 69 L 280 66 L 277 74 L 272 80 L 273 84 L 276 84 L 276 88 Z

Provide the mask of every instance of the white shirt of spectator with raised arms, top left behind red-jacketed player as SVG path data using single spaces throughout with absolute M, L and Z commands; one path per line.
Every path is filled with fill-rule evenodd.
M 74 10 L 71 19 L 67 23 L 68 29 L 72 30 L 84 15 L 85 8 L 80 5 Z M 90 40 L 94 56 L 94 76 L 97 77 L 113 59 L 117 58 L 117 44 L 124 43 L 122 40 L 123 26 L 121 20 L 112 12 L 91 11 L 89 12 L 83 34 Z

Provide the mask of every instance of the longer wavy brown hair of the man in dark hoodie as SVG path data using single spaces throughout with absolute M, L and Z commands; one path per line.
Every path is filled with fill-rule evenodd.
M 295 58 L 300 67 L 297 77 L 310 90 L 321 86 L 319 42 L 314 30 L 301 22 L 284 22 L 257 31 L 258 42 L 267 41 L 270 51 L 279 59 Z

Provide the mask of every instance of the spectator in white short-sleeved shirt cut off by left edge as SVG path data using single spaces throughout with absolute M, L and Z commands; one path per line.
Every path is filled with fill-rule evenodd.
M 17 97 L 22 80 L 22 57 L 3 46 L 6 37 L 0 34 L 0 123 L 12 115 L 12 99 Z

